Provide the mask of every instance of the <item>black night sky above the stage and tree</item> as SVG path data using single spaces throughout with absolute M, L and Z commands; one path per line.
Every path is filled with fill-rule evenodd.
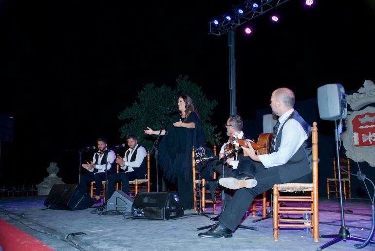
M 39 183 L 57 162 L 76 182 L 77 156 L 66 149 L 100 136 L 122 143 L 117 116 L 144 84 L 173 85 L 186 74 L 219 102 L 213 124 L 229 113 L 227 36 L 208 36 L 207 22 L 241 1 L 0 0 L 0 114 L 15 118 L 14 142 L 1 146 L 1 183 Z M 341 83 L 375 81 L 372 0 L 290 0 L 236 36 L 237 106 L 244 119 L 267 108 L 277 87 L 297 100 Z M 219 127 L 220 129 L 224 129 Z M 16 175 L 20 176 L 15 178 Z

